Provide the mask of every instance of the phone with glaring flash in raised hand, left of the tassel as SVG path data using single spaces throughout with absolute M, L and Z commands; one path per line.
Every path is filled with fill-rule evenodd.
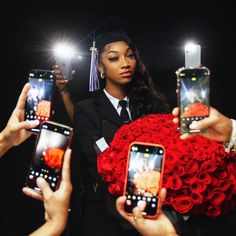
M 60 57 L 56 56 L 56 64 L 59 66 L 64 79 L 72 80 L 73 79 L 73 65 L 72 65 L 72 58 L 67 57 Z

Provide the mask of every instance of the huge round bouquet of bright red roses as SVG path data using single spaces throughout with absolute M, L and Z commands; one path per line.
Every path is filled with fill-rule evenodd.
M 162 144 L 166 150 L 163 187 L 165 205 L 181 214 L 216 217 L 236 207 L 236 155 L 221 143 L 200 135 L 179 138 L 171 114 L 152 114 L 122 126 L 98 157 L 98 172 L 109 192 L 123 194 L 131 142 Z

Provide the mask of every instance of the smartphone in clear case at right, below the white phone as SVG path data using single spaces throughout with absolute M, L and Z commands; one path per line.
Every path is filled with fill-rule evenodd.
M 191 130 L 189 125 L 209 116 L 209 69 L 206 67 L 180 68 L 176 75 L 180 131 L 183 133 L 206 132 L 206 129 Z

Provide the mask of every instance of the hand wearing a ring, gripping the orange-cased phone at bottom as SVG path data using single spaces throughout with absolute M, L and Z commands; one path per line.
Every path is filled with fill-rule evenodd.
M 161 206 L 165 200 L 166 189 L 161 189 L 159 199 L 161 201 Z M 124 204 L 126 201 L 125 196 L 117 198 L 116 209 L 119 214 L 126 219 L 134 228 L 145 236 L 172 236 L 177 235 L 169 218 L 162 212 L 158 214 L 155 219 L 148 219 L 143 217 L 142 212 L 144 211 L 146 204 L 137 206 L 133 209 L 133 216 L 128 215 L 124 210 Z M 145 203 L 145 202 L 144 202 Z

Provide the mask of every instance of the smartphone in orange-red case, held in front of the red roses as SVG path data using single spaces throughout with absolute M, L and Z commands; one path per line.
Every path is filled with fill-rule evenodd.
M 155 218 L 160 211 L 159 191 L 162 186 L 165 149 L 162 145 L 133 142 L 129 147 L 124 195 L 124 209 L 146 202 L 143 217 Z

